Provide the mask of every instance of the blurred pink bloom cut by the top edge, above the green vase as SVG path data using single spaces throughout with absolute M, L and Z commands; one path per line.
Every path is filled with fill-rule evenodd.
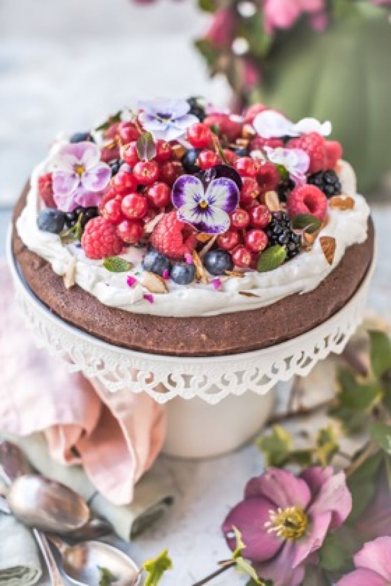
M 315 14 L 325 9 L 324 0 L 265 0 L 264 23 L 266 32 L 288 29 L 303 12 Z

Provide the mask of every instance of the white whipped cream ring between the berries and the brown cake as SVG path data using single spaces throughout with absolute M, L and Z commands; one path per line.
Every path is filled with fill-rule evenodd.
M 57 142 L 56 148 L 59 144 Z M 127 285 L 129 275 L 133 275 L 136 280 L 141 277 L 143 251 L 139 248 L 130 247 L 126 254 L 121 255 L 133 264 L 132 270 L 114 273 L 103 267 L 103 261 L 86 258 L 80 245 L 63 246 L 57 234 L 38 229 L 38 177 L 47 171 L 52 155 L 53 152 L 33 172 L 27 204 L 17 222 L 19 236 L 26 247 L 52 266 L 57 275 L 66 274 L 70 264 L 76 259 L 76 283 L 104 305 L 125 311 L 185 318 L 261 308 L 288 295 L 302 294 L 316 288 L 338 265 L 346 248 L 362 243 L 367 237 L 369 207 L 365 199 L 356 193 L 356 178 L 352 167 L 349 163 L 340 161 L 337 171 L 342 192 L 351 196 L 355 205 L 352 210 L 346 211 L 329 209 L 327 225 L 319 234 L 335 238 L 336 250 L 331 266 L 327 263 L 317 238 L 311 250 L 303 251 L 276 270 L 246 272 L 243 278 L 228 277 L 222 280 L 222 288 L 219 290 L 213 288 L 212 283 L 193 282 L 183 286 L 167 281 L 168 292 L 154 294 L 151 303 L 150 298 L 149 301 L 144 298 L 144 294 L 149 291 L 140 282 L 136 281 L 133 287 Z

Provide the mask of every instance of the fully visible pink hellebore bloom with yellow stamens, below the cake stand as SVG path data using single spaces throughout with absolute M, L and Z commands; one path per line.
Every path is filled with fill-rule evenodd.
M 298 586 L 304 564 L 329 530 L 344 523 L 351 508 L 344 472 L 317 466 L 297 478 L 269 468 L 247 483 L 244 500 L 227 516 L 223 533 L 234 550 L 232 528 L 239 529 L 245 556 L 264 580 L 273 581 L 273 586 Z

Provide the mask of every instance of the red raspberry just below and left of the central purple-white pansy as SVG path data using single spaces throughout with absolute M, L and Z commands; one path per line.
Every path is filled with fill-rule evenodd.
M 178 220 L 176 212 L 162 217 L 151 236 L 152 246 L 169 258 L 183 258 L 196 247 L 196 236 L 185 222 Z

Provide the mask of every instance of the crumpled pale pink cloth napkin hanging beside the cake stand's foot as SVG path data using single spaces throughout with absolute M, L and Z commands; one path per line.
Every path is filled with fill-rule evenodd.
M 0 259 L 0 432 L 43 431 L 57 462 L 82 464 L 107 499 L 130 503 L 162 447 L 164 409 L 147 393 L 111 394 L 100 381 L 70 374 L 35 346 L 13 297 Z

